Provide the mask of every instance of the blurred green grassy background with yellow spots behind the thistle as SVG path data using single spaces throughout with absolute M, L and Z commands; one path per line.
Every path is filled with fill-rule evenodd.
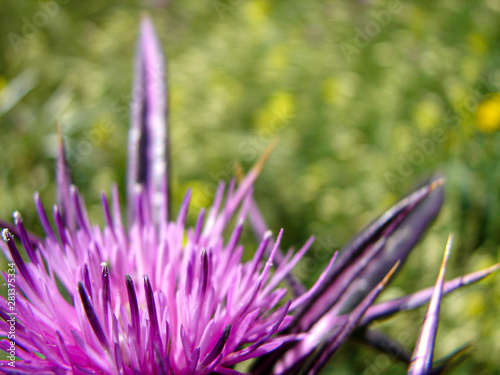
M 447 178 L 443 211 L 382 298 L 499 261 L 500 1 L 2 0 L 0 217 L 32 195 L 54 202 L 55 123 L 91 217 L 101 190 L 124 193 L 132 64 L 140 15 L 168 56 L 175 207 L 194 216 L 217 181 L 279 143 L 256 198 L 284 244 L 316 242 L 311 284 L 334 250 L 416 184 Z M 311 272 L 313 270 L 314 272 Z M 500 277 L 445 300 L 436 357 L 474 343 L 454 374 L 500 373 Z M 413 348 L 425 309 L 379 325 Z M 329 374 L 403 373 L 348 344 Z

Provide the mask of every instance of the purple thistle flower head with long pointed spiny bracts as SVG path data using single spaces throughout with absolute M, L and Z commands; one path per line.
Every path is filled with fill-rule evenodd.
M 18 212 L 14 225 L 1 223 L 0 247 L 16 271 L 16 291 L 0 298 L 0 335 L 6 337 L 0 349 L 11 354 L 14 348 L 16 360 L 0 361 L 0 371 L 313 375 L 356 328 L 431 300 L 431 318 L 424 322 L 431 329 L 422 334 L 410 369 L 413 375 L 428 373 L 441 295 L 498 268 L 444 283 L 443 265 L 434 293 L 430 288 L 373 305 L 439 212 L 442 179 L 410 194 L 338 256 L 332 254 L 306 289 L 292 270 L 313 238 L 296 254 L 284 255 L 283 230 L 273 237 L 252 197 L 269 150 L 239 184 L 220 183 L 211 208 L 200 212 L 194 227 L 186 227 L 190 191 L 177 217 L 169 217 L 164 63 L 148 18 L 141 26 L 133 97 L 127 225 L 116 187 L 111 199 L 102 195 L 104 228 L 91 223 L 71 185 L 62 136 L 53 224 L 35 194 L 46 237 L 30 234 Z M 254 257 L 243 262 L 240 236 L 247 217 L 259 244 Z M 4 272 L 9 285 L 12 274 Z M 248 370 L 237 370 L 250 359 Z

